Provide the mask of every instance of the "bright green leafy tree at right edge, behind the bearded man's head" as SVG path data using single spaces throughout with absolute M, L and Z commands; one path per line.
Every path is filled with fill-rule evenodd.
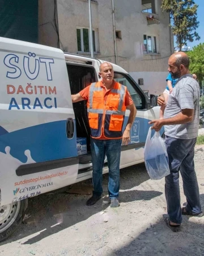
M 204 80 L 204 43 L 194 46 L 192 51 L 187 52 L 190 59 L 190 72 L 197 75 L 199 85 Z

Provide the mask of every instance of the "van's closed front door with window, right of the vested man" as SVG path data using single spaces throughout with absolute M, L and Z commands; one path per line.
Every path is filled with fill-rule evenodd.
M 114 80 L 127 87 L 133 103 L 137 109 L 137 115 L 130 131 L 130 143 L 122 146 L 120 167 L 127 167 L 144 161 L 144 146 L 150 125 L 148 122 L 155 119 L 154 111 L 148 108 L 145 93 L 139 88 L 135 81 L 128 75 L 114 71 Z M 124 127 L 128 122 L 130 110 L 126 110 Z

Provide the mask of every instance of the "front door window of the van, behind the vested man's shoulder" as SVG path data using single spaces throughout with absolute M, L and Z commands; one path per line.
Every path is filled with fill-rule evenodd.
M 121 73 L 114 72 L 114 80 L 127 87 L 137 109 L 145 109 L 142 96 L 137 92 L 137 90 L 135 90 L 128 77 L 122 75 Z

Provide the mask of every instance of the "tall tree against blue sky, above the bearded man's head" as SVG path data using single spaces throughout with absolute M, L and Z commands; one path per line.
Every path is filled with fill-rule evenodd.
M 176 36 L 176 43 L 180 51 L 186 42 L 199 40 L 196 32 L 199 26 L 197 21 L 198 5 L 193 0 L 163 0 L 163 11 L 167 11 L 171 17 L 171 28 L 173 35 Z

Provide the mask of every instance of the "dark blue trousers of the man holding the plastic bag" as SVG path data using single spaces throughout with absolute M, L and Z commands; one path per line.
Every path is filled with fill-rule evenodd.
M 179 188 L 179 171 L 181 172 L 186 210 L 190 213 L 201 213 L 199 188 L 194 169 L 195 139 L 175 139 L 166 136 L 165 144 L 169 158 L 170 174 L 165 177 L 165 197 L 169 220 L 181 224 L 181 204 Z

